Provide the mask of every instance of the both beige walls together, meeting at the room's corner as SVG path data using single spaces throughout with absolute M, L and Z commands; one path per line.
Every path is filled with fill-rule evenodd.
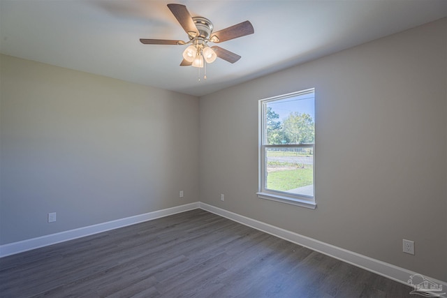
M 446 19 L 200 106 L 75 70 L 0 64 L 0 244 L 200 200 L 447 281 Z M 258 199 L 258 100 L 311 87 L 318 207 Z

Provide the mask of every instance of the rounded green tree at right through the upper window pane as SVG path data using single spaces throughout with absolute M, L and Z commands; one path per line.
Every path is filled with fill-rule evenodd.
M 315 141 L 315 124 L 307 113 L 294 112 L 283 123 L 284 138 L 290 144 L 312 144 Z

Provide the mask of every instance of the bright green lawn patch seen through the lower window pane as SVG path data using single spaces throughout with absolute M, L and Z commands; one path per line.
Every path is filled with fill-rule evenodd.
M 312 167 L 269 172 L 267 176 L 267 188 L 277 191 L 289 191 L 293 188 L 307 186 L 314 183 Z

